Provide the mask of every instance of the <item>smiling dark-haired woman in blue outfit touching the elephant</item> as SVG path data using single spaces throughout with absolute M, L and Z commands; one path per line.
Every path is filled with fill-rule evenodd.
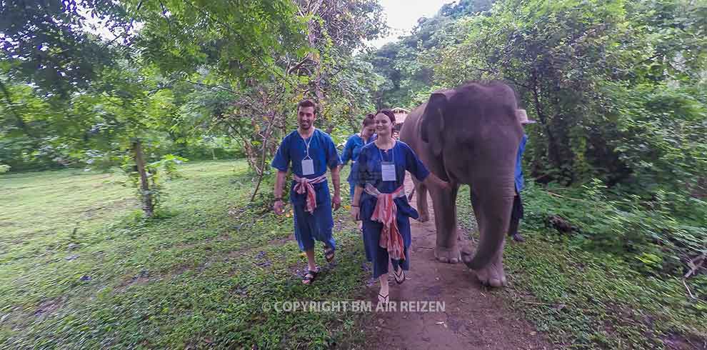
M 449 184 L 431 174 L 415 152 L 404 142 L 393 139 L 395 115 L 389 109 L 378 111 L 375 118 L 376 141 L 363 146 L 356 166 L 356 189 L 351 216 L 363 221 L 363 244 L 373 263 L 373 278 L 381 281 L 378 300 L 388 302 L 388 261 L 398 284 L 405 281 L 410 269 L 410 219 L 418 212 L 405 195 L 405 171 L 423 183 Z

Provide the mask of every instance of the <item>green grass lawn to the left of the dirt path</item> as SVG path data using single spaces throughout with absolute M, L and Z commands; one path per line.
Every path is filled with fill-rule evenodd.
M 362 314 L 261 309 L 361 299 L 368 275 L 346 211 L 335 216 L 339 264 L 308 288 L 296 275 L 306 259 L 289 239 L 292 218 L 271 214 L 266 196 L 249 204 L 244 161 L 180 171 L 154 219 L 142 218 L 118 174 L 1 176 L 0 348 L 361 346 Z

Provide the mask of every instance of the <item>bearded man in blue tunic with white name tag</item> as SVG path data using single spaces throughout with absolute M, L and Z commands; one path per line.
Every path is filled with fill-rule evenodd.
M 280 143 L 271 166 L 278 170 L 275 181 L 276 214 L 283 214 L 282 190 L 291 166 L 293 179 L 290 201 L 294 207 L 294 231 L 299 249 L 306 252 L 308 271 L 302 283 L 312 284 L 319 269 L 314 261 L 314 241 L 324 242 L 326 261 L 334 260 L 336 241 L 332 235 L 334 210 L 341 206 L 339 181 L 339 154 L 334 141 L 324 131 L 314 127 L 316 104 L 307 99 L 297 105 L 299 127 L 292 131 Z M 326 182 L 326 168 L 331 169 L 331 182 L 334 184 L 334 199 L 329 197 L 329 185 Z

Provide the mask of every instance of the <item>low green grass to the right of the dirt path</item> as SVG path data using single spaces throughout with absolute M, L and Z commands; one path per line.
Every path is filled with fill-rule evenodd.
M 461 226 L 473 231 L 468 187 L 459 194 Z M 526 194 L 526 218 L 538 215 Z M 521 223 L 528 241 L 508 243 L 511 286 L 497 293 L 538 330 L 568 349 L 663 349 L 667 341 L 698 349 L 707 339 L 707 302 L 690 299 L 675 277 L 646 276 L 620 256 L 586 251 L 561 236 Z M 528 229 L 530 227 L 530 229 Z M 673 344 L 673 346 L 676 346 Z M 702 349 L 702 348 L 699 348 Z

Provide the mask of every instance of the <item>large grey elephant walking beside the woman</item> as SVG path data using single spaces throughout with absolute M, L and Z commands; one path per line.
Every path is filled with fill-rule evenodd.
M 510 224 L 515 185 L 513 169 L 523 136 L 516 118 L 516 94 L 501 81 L 468 82 L 433 92 L 410 112 L 400 139 L 410 146 L 429 171 L 451 189 L 424 186 L 413 178 L 419 220 L 427 221 L 427 191 L 435 214 L 438 261 L 463 261 L 476 271 L 481 284 L 506 286 L 503 248 Z M 461 184 L 471 186 L 471 206 L 481 234 L 476 254 L 460 247 L 456 196 Z

